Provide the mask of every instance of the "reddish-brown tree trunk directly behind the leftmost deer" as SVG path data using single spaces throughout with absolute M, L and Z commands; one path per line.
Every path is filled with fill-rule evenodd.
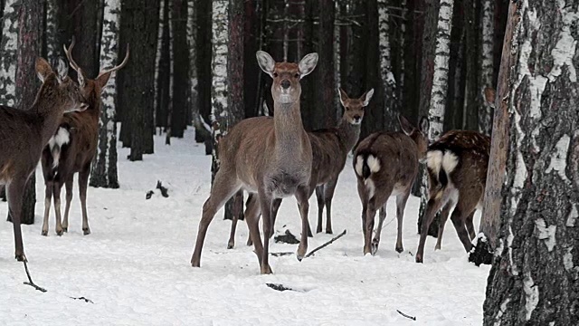
M 30 108 L 38 92 L 38 78 L 34 69 L 36 58 L 40 55 L 43 43 L 44 1 L 24 0 L 18 11 L 18 62 L 16 64 L 16 107 Z M 36 205 L 35 173 L 28 179 L 24 191 L 21 223 L 34 224 Z M 9 217 L 10 219 L 10 217 Z

